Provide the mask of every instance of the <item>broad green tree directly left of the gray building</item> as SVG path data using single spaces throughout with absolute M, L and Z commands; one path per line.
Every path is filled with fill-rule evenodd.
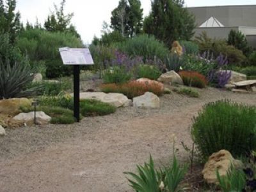
M 189 40 L 195 29 L 195 16 L 184 7 L 184 0 L 153 0 L 144 20 L 145 33 L 154 34 L 170 47 L 175 40 Z

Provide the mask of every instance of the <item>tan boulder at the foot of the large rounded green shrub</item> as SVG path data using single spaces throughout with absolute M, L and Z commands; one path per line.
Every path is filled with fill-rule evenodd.
M 228 170 L 233 166 L 234 168 L 241 168 L 243 163 L 232 157 L 232 154 L 226 150 L 214 152 L 208 159 L 204 166 L 202 174 L 204 179 L 209 184 L 218 184 L 216 170 L 220 176 L 227 175 Z

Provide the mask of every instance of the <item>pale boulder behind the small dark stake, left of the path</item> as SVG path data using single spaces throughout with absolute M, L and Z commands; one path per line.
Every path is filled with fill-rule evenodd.
M 20 113 L 12 118 L 12 122 L 17 122 L 19 124 L 33 124 L 35 118 L 34 112 L 29 113 Z M 52 117 L 46 115 L 44 112 L 36 112 L 36 123 L 37 124 L 48 124 L 51 121 Z

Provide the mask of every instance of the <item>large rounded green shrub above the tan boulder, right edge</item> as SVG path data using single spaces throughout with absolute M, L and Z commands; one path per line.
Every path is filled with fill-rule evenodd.
M 256 149 L 256 108 L 227 100 L 208 103 L 194 118 L 191 133 L 204 158 L 221 149 L 243 156 Z

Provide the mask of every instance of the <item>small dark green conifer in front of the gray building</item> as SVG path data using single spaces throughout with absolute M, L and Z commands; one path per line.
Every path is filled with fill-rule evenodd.
M 241 50 L 244 55 L 248 55 L 250 53 L 250 47 L 248 47 L 248 43 L 246 40 L 246 36 L 241 31 L 231 30 L 228 34 L 228 45 L 233 45 L 237 49 Z

